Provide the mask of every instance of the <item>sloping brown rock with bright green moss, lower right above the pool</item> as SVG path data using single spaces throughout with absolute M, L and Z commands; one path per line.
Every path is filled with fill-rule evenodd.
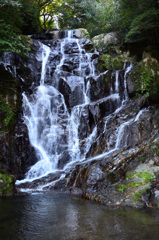
M 134 109 L 133 102 L 127 106 L 126 110 L 134 109 L 129 117 L 136 115 L 143 102 L 135 106 Z M 121 143 L 122 141 L 125 143 L 123 150 L 118 149 L 108 156 L 101 155 L 98 160 L 94 158 L 91 162 L 78 164 L 67 175 L 67 179 L 70 178 L 67 185 L 70 191 L 75 188 L 76 192 L 82 191 L 84 198 L 110 206 L 142 207 L 146 204 L 150 207 L 151 205 L 158 207 L 157 195 L 156 198 L 150 198 L 150 195 L 154 195 L 159 189 L 157 177 L 159 111 L 156 107 L 150 107 L 140 113 L 135 121 L 131 123 L 127 121 L 129 124 L 125 124 L 121 139 Z M 115 121 L 118 116 L 126 117 L 121 111 L 114 116 Z M 107 134 L 99 136 L 97 142 L 93 144 L 91 155 L 105 151 L 107 138 L 113 135 L 112 131 L 114 125 L 110 122 Z

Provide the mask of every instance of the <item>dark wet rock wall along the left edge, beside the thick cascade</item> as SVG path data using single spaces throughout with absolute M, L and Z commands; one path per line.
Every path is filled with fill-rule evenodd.
M 39 48 L 35 41 L 33 50 Z M 34 63 L 35 66 L 34 66 Z M 31 147 L 28 131 L 22 117 L 22 92 L 32 92 L 38 84 L 41 69 L 39 60 L 31 53 L 26 61 L 13 53 L 4 53 L 0 61 L 0 163 L 18 178 L 22 178 L 28 168 L 36 162 L 35 151 Z M 38 70 L 39 69 L 39 70 Z M 34 84 L 32 80 L 34 79 Z M 30 88 L 32 86 L 32 88 Z

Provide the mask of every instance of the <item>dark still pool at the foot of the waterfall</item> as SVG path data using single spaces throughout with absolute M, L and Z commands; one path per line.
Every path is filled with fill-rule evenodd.
M 0 199 L 0 240 L 158 240 L 159 212 L 115 210 L 63 194 Z

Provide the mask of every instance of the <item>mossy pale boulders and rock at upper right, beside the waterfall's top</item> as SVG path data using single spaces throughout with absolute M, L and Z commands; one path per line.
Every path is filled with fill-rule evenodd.
M 121 69 L 126 62 L 133 62 L 134 68 L 127 79 L 130 98 L 136 95 L 149 97 L 152 103 L 158 103 L 159 92 L 159 52 L 157 46 L 121 47 L 116 33 L 95 36 L 94 42 L 100 52 L 99 70 Z

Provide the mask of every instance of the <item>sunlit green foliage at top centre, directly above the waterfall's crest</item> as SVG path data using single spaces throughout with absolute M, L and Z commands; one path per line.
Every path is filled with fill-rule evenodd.
M 56 6 L 61 29 L 86 28 L 91 37 L 103 33 L 114 18 L 114 1 L 67 0 Z M 100 26 L 100 28 L 99 28 Z

